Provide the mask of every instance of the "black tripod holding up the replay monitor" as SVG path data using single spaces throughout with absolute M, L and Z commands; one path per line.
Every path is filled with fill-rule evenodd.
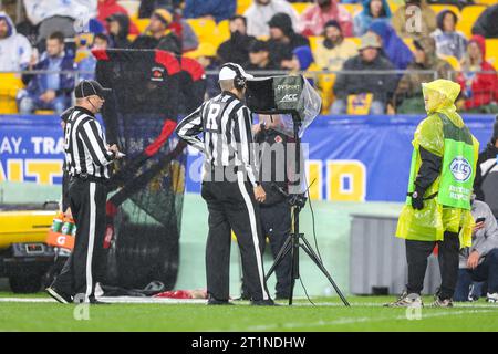
M 298 119 L 295 119 L 294 114 L 292 114 L 293 121 L 294 121 L 294 139 L 295 139 L 295 167 L 300 168 L 300 137 L 299 137 L 299 127 L 300 123 Z M 299 170 L 298 170 L 299 174 Z M 291 252 L 292 257 L 292 266 L 291 266 L 291 289 L 290 289 L 290 295 L 289 295 L 289 305 L 292 305 L 292 298 L 294 292 L 294 285 L 295 280 L 300 279 L 299 274 L 299 249 L 302 248 L 304 252 L 310 257 L 310 259 L 317 264 L 317 267 L 322 271 L 322 273 L 326 277 L 331 285 L 334 288 L 338 295 L 341 298 L 342 302 L 345 306 L 350 306 L 350 303 L 342 294 L 339 287 L 335 284 L 334 280 L 323 266 L 323 262 L 321 259 L 317 256 L 317 252 L 313 250 L 311 244 L 308 242 L 307 238 L 304 237 L 304 233 L 299 232 L 299 214 L 302 208 L 304 208 L 304 205 L 307 202 L 307 197 L 304 194 L 287 194 L 284 190 L 282 190 L 277 185 L 273 185 L 273 188 L 276 188 L 280 194 L 282 194 L 289 205 L 291 206 L 292 210 L 292 229 L 291 233 L 287 238 L 286 242 L 283 243 L 282 248 L 280 249 L 279 253 L 277 254 L 273 264 L 271 266 L 270 270 L 268 271 L 267 275 L 264 277 L 264 280 L 268 281 L 268 279 L 271 277 L 276 268 L 280 264 L 280 262 L 284 259 L 284 257 Z

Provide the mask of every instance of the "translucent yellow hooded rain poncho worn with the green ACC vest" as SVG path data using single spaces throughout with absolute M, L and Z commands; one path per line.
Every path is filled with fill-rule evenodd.
M 457 131 L 466 128 L 464 121 L 458 113 L 456 113 L 454 104 L 459 92 L 460 86 L 447 80 L 436 80 L 423 84 L 423 93 L 428 116 L 418 125 L 412 142 L 414 154 L 411 176 L 416 176 L 422 164 L 419 146 L 423 146 L 424 149 L 442 158 L 445 155 L 445 124 L 453 125 L 450 128 Z M 442 118 L 443 116 L 445 116 L 445 121 Z M 446 128 L 448 128 L 448 126 L 446 126 Z M 471 184 L 476 170 L 479 143 L 469 133 L 467 133 L 467 135 L 470 136 L 470 146 L 473 149 L 470 153 L 470 164 L 473 165 Z M 427 188 L 424 198 L 434 195 L 437 196 L 440 183 L 442 175 L 439 175 L 430 187 Z M 412 184 L 413 180 L 411 180 L 408 190 L 413 190 Z M 400 215 L 396 237 L 408 240 L 440 241 L 444 238 L 445 231 L 459 232 L 460 247 L 471 246 L 474 219 L 470 215 L 470 210 L 448 207 L 443 205 L 437 197 L 424 200 L 424 208 L 422 210 L 416 210 L 412 208 L 409 200 L 411 197 L 408 197 L 407 202 Z

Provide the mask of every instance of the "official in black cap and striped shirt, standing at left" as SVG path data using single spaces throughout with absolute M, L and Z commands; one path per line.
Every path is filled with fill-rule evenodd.
M 74 88 L 76 105 L 65 123 L 65 169 L 70 176 L 69 202 L 76 223 L 75 244 L 59 277 L 46 289 L 62 303 L 98 303 L 97 269 L 104 262 L 106 180 L 108 165 L 120 156 L 116 145 L 105 143 L 95 114 L 110 92 L 96 81 L 84 80 Z M 79 295 L 79 296 L 76 296 Z

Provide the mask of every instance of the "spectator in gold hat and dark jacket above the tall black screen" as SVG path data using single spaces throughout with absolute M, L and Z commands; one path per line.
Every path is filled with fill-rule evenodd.
M 166 9 L 156 9 L 151 15 L 151 23 L 132 44 L 133 49 L 160 49 L 175 54 L 181 54 L 180 39 L 168 29 L 173 21 L 172 13 Z

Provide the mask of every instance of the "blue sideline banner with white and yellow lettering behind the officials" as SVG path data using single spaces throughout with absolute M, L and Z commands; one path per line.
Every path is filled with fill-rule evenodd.
M 313 199 L 403 201 L 412 138 L 421 116 L 319 116 L 303 136 Z M 489 142 L 494 116 L 466 115 L 480 142 Z M 200 160 L 188 150 L 186 189 L 199 192 Z M 61 184 L 63 138 L 58 116 L 0 116 L 0 183 Z

